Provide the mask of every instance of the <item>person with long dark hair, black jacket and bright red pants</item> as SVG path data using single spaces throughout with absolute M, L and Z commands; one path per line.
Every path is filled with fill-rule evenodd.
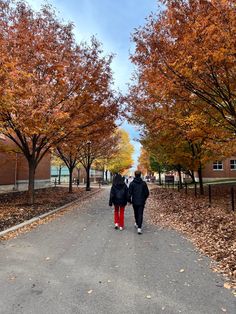
M 124 213 L 128 200 L 128 187 L 120 174 L 115 174 L 110 191 L 109 206 L 114 205 L 115 229 L 124 229 Z

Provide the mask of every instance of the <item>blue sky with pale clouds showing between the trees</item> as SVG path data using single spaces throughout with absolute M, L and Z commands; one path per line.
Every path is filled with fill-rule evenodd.
M 65 22 L 73 22 L 75 36 L 80 41 L 89 42 L 94 35 L 103 45 L 105 54 L 115 54 L 112 62 L 115 88 L 127 91 L 134 66 L 129 60 L 134 51 L 131 34 L 135 28 L 145 24 L 145 18 L 158 10 L 157 0 L 27 0 L 29 5 L 39 10 L 42 4 L 51 4 L 57 15 Z M 133 170 L 138 163 L 140 143 L 137 127 L 127 122 L 122 126 L 131 138 L 135 148 Z

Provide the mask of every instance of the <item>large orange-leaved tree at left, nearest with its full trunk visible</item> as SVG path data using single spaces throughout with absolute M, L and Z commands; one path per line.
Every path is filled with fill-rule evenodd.
M 50 6 L 0 0 L 0 132 L 28 161 L 31 203 L 35 170 L 52 150 L 70 172 L 88 141 L 96 158 L 114 154 L 120 97 L 111 61 L 95 38 L 77 44 Z

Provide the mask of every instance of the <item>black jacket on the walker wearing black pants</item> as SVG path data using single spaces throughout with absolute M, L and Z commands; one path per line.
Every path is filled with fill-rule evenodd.
M 129 202 L 134 205 L 144 206 L 148 196 L 147 183 L 141 178 L 134 178 L 129 185 Z

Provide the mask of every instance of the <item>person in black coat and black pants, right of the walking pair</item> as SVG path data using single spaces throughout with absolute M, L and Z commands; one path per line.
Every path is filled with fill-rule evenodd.
M 141 172 L 135 171 L 135 178 L 129 185 L 129 202 L 134 209 L 135 227 L 138 234 L 142 233 L 143 211 L 146 200 L 149 196 L 147 183 L 141 178 Z

